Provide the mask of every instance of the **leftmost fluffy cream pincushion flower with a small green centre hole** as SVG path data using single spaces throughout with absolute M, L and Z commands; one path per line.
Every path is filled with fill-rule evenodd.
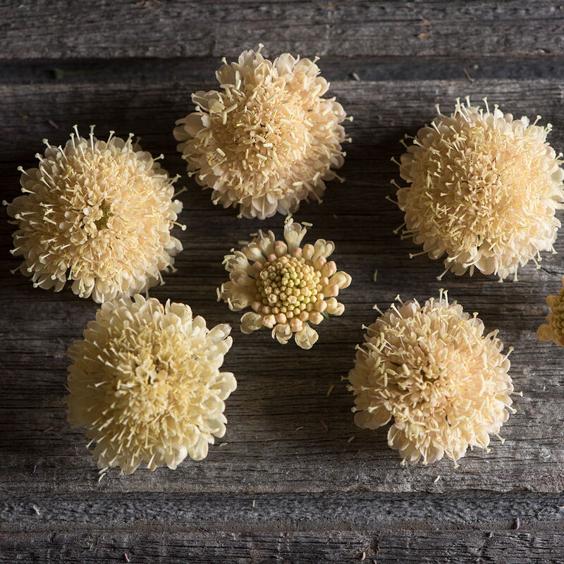
M 93 128 L 92 128 L 93 130 Z M 162 282 L 182 250 L 169 231 L 182 209 L 156 159 L 127 140 L 80 137 L 47 145 L 39 168 L 22 172 L 25 195 L 8 204 L 16 219 L 13 255 L 33 286 L 111 300 Z M 4 202 L 6 204 L 6 202 Z

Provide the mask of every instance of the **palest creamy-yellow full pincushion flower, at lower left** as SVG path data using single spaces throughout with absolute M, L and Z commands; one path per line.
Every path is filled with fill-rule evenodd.
M 68 421 L 96 441 L 98 467 L 174 470 L 225 434 L 237 383 L 219 372 L 230 327 L 207 329 L 188 305 L 135 295 L 105 302 L 68 355 Z

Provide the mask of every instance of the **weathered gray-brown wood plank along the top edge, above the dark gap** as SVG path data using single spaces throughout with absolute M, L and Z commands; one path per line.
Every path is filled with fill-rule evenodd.
M 563 16 L 544 0 L 33 0 L 0 5 L 0 57 L 221 57 L 260 41 L 273 55 L 559 55 Z

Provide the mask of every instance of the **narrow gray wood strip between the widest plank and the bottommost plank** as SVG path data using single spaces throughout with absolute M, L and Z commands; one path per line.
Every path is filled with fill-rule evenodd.
M 370 532 L 409 529 L 563 532 L 563 494 L 484 491 L 443 494 L 178 495 L 93 491 L 4 496 L 0 532 L 61 532 L 159 528 L 170 532 Z

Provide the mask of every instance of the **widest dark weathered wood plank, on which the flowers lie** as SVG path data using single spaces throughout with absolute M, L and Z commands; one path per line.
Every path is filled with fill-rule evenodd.
M 110 128 L 118 135 L 133 130 L 143 137 L 145 149 L 164 152 L 164 166 L 171 173 L 183 173 L 171 129 L 174 120 L 190 109 L 188 94 L 202 87 L 208 85 L 180 80 L 157 85 L 82 82 L 72 88 L 61 83 L 0 86 L 2 197 L 18 195 L 16 166 L 32 166 L 42 137 L 64 142 L 73 123 L 82 131 L 97 123 L 99 135 Z M 321 325 L 319 343 L 310 351 L 278 345 L 266 332 L 241 335 L 238 316 L 215 298 L 216 286 L 226 279 L 223 254 L 258 226 L 280 231 L 282 218 L 262 223 L 238 220 L 233 210 L 212 206 L 209 193 L 195 188 L 184 175 L 178 185 L 190 188 L 182 196 L 186 211 L 181 216 L 188 230 L 176 235 L 185 250 L 176 262 L 178 272 L 166 276 L 166 286 L 152 290 L 152 295 L 188 302 L 209 324 L 231 323 L 234 345 L 225 367 L 235 373 L 239 386 L 227 404 L 228 433 L 221 441 L 227 444 L 212 448 L 203 462 L 184 462 L 176 472 L 159 469 L 120 477 L 114 470 L 97 484 L 85 439 L 81 431 L 69 429 L 62 406 L 66 348 L 80 337 L 97 306 L 70 291 L 33 289 L 20 274 L 8 275 L 18 259 L 8 255 L 11 226 L 2 221 L 0 490 L 59 495 L 562 491 L 564 352 L 537 342 L 534 331 L 546 315 L 545 295 L 560 287 L 564 238 L 556 243 L 559 255 L 545 255 L 540 271 L 534 266 L 522 269 L 516 283 L 450 274 L 439 282 L 435 278 L 442 271 L 439 262 L 407 257 L 418 249 L 392 233 L 402 216 L 384 196 L 393 193 L 390 178 L 397 178 L 390 157 L 401 152 L 398 139 L 429 121 L 436 102 L 447 110 L 456 96 L 470 94 L 477 101 L 487 94 L 492 104 L 497 102 L 506 111 L 542 114 L 542 123 L 555 123 L 550 140 L 560 149 L 563 88 L 559 80 L 333 82 L 333 94 L 355 116 L 348 125 L 353 144 L 347 148 L 343 168 L 347 181 L 331 183 L 324 203 L 303 205 L 296 219 L 314 223 L 311 239 L 336 241 L 336 261 L 352 274 L 353 285 L 343 293 L 345 314 Z M 1 214 L 5 217 L 5 210 Z M 376 283 L 374 269 L 379 270 Z M 374 302 L 386 306 L 398 292 L 403 298 L 424 300 L 441 287 L 450 288 L 451 298 L 466 309 L 479 311 L 487 329 L 501 329 L 506 346 L 515 346 L 512 374 L 524 397 L 515 398 L 517 414 L 503 427 L 505 444 L 494 440 L 491 453 L 470 453 L 458 470 L 447 461 L 424 468 L 400 467 L 397 453 L 386 445 L 385 429 L 373 432 L 354 426 L 353 398 L 341 376 L 352 367 L 362 324 L 375 317 Z M 335 389 L 327 396 L 333 384 Z M 349 442 L 351 436 L 355 440 Z

